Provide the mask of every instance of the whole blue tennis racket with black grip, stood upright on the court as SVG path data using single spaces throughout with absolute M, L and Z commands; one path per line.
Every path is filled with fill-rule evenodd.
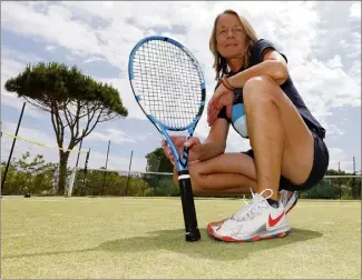
M 200 239 L 188 172 L 188 149 L 179 157 L 170 131 L 190 138 L 205 107 L 205 80 L 196 58 L 167 37 L 140 40 L 129 56 L 128 73 L 136 101 L 170 148 L 178 171 L 186 241 Z

